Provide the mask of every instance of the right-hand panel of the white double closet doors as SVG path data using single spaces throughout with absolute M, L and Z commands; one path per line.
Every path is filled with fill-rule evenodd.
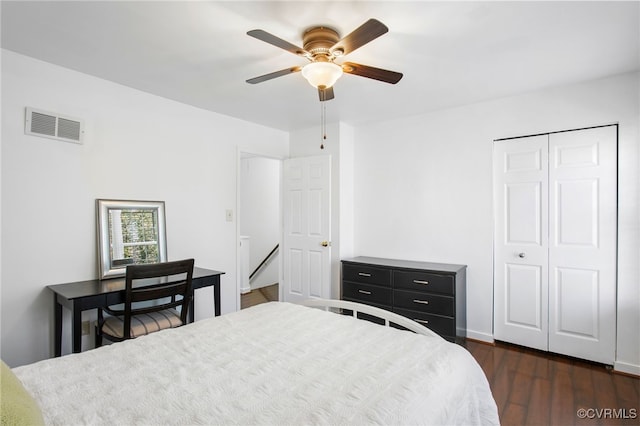
M 617 128 L 549 137 L 549 350 L 613 364 Z

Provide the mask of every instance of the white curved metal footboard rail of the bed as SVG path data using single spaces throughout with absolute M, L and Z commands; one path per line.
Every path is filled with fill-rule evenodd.
M 424 325 L 418 324 L 417 322 L 412 321 L 407 317 L 403 317 L 391 311 L 385 311 L 384 309 L 376 308 L 375 306 L 349 302 L 347 300 L 320 298 L 307 299 L 302 302 L 302 304 L 312 308 L 321 308 L 325 311 L 330 311 L 331 309 L 347 309 L 353 312 L 352 316 L 354 318 L 358 318 L 358 313 L 362 312 L 363 314 L 371 315 L 384 320 L 384 325 L 386 327 L 389 327 L 390 324 L 393 323 L 423 336 L 437 337 L 439 339 L 442 339 L 439 334 L 431 331 Z

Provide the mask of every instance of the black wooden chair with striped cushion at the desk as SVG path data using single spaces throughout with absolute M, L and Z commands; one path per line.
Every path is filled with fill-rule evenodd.
M 127 266 L 124 304 L 98 309 L 96 347 L 102 346 L 103 337 L 120 342 L 186 324 L 193 263 L 186 259 Z

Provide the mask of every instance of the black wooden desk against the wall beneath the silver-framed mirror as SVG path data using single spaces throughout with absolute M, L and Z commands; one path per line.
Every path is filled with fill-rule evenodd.
M 211 269 L 193 269 L 193 289 L 213 286 L 214 313 L 220 315 L 220 275 L 224 272 Z M 71 310 L 71 335 L 73 352 L 82 349 L 82 311 L 124 303 L 125 282 L 122 278 L 78 281 L 47 286 L 53 291 L 55 356 L 62 355 L 62 307 Z M 189 322 L 193 322 L 193 298 L 189 306 Z

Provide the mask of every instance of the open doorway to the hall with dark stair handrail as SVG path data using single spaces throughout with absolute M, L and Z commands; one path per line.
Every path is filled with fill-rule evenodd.
M 279 300 L 282 161 L 240 153 L 238 173 L 239 306 Z

